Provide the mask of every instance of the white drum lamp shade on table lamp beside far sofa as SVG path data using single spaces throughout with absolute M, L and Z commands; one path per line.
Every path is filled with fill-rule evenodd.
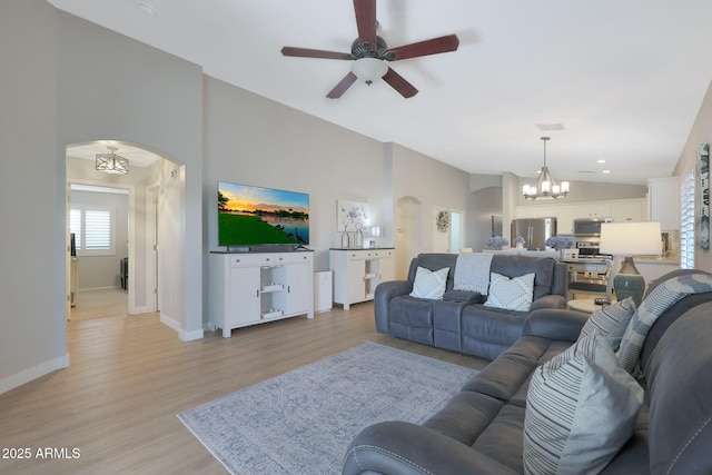
M 660 256 L 660 222 L 603 222 L 600 253 L 614 256 Z

